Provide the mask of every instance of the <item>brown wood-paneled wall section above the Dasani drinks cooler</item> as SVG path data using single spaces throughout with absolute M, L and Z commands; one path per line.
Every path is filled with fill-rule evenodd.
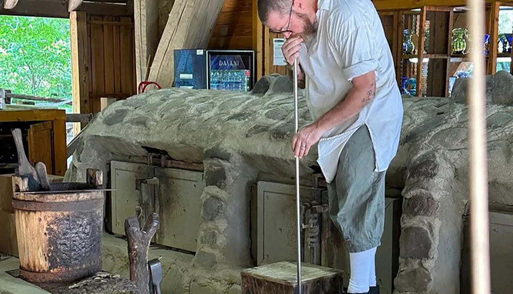
M 252 0 L 225 0 L 209 49 L 252 49 Z

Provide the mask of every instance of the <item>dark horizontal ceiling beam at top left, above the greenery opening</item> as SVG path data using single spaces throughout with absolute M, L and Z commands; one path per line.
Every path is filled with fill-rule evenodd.
M 84 2 L 77 10 L 90 15 L 127 16 L 126 5 Z M 69 18 L 68 3 L 60 0 L 23 0 L 13 9 L 0 6 L 0 15 Z

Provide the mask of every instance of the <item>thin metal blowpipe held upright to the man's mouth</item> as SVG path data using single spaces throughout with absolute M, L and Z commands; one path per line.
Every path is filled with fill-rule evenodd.
M 299 131 L 298 117 L 298 60 L 294 60 L 294 118 L 295 132 Z M 301 294 L 301 203 L 299 202 L 299 156 L 295 158 L 295 209 L 298 220 L 298 294 Z

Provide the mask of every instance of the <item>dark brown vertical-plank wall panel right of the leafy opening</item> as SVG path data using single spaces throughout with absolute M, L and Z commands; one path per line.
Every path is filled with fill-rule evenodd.
M 88 15 L 91 112 L 101 98 L 126 99 L 136 93 L 135 44 L 131 17 Z

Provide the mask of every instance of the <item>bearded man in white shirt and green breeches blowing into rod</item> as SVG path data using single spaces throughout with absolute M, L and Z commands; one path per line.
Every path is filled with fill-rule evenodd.
M 348 293 L 379 293 L 374 258 L 384 225 L 385 172 L 396 155 L 403 105 L 392 54 L 370 0 L 259 0 L 314 123 L 292 140 L 302 158 L 318 143 L 330 214 L 348 244 Z

